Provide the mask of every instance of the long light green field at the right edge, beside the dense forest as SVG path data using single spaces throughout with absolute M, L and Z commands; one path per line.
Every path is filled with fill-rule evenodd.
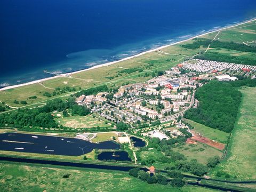
M 238 121 L 231 134 L 225 161 L 214 170 L 229 173 L 238 179 L 256 179 L 256 87 L 240 90 L 243 100 Z

